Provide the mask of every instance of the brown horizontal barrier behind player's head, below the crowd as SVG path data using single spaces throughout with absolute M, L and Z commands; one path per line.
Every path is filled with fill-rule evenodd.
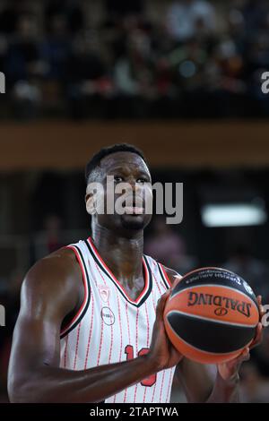
M 0 124 L 0 170 L 82 168 L 100 147 L 141 148 L 154 168 L 269 165 L 269 123 L 36 122 Z

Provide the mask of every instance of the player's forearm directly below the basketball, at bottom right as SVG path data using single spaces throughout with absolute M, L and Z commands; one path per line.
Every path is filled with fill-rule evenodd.
M 218 373 L 213 386 L 213 391 L 208 403 L 237 403 L 239 402 L 239 374 L 229 381 L 222 379 Z

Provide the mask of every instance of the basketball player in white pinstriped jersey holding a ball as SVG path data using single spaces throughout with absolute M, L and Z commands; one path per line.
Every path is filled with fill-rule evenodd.
M 114 185 L 129 183 L 140 204 L 129 214 L 100 214 L 87 193 L 91 237 L 28 272 L 13 334 L 10 400 L 169 402 L 176 367 L 187 400 L 237 400 L 239 366 L 249 348 L 218 365 L 212 384 L 204 365 L 182 357 L 166 336 L 162 313 L 178 274 L 143 255 L 143 229 L 151 219 L 143 197 L 151 174 L 142 152 L 126 144 L 100 150 L 86 180 L 102 183 L 105 198 L 107 176 Z M 261 331 L 259 323 L 252 347 Z

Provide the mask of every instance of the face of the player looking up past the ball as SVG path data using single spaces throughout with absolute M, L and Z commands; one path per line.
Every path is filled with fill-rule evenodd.
M 152 219 L 152 178 L 143 159 L 133 152 L 115 152 L 100 162 L 101 189 L 92 196 L 93 223 L 134 232 Z M 147 203 L 147 205 L 146 205 Z M 108 207 L 111 214 L 108 213 Z

